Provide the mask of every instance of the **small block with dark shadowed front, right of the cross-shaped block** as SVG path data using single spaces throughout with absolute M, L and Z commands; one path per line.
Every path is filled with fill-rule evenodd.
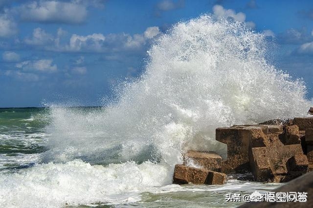
M 287 162 L 288 173 L 293 176 L 300 176 L 308 171 L 308 158 L 304 154 L 296 154 Z

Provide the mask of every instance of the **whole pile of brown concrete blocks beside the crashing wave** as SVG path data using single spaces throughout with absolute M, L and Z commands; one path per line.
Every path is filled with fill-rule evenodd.
M 223 184 L 225 174 L 247 172 L 255 181 L 285 183 L 313 170 L 313 117 L 217 128 L 216 140 L 227 145 L 227 158 L 189 150 L 174 183 Z

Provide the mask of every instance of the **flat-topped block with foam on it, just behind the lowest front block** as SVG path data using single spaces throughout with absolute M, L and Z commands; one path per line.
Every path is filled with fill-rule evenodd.
M 189 150 L 184 155 L 184 164 L 187 164 L 192 160 L 192 162 L 201 166 L 205 169 L 212 171 L 221 171 L 222 157 L 216 152 L 204 152 L 204 151 L 194 151 Z

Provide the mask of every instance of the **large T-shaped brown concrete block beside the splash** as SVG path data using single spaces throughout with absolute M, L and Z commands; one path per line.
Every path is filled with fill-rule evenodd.
M 224 161 L 222 172 L 245 173 L 250 171 L 248 150 L 252 146 L 266 146 L 268 126 L 265 125 L 234 125 L 216 129 L 216 140 L 227 145 L 227 160 Z

